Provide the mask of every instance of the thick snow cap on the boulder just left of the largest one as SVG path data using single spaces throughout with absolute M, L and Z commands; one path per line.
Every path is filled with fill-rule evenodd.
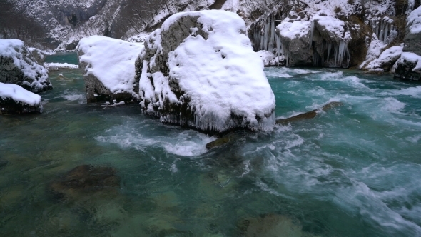
M 142 44 L 129 43 L 105 36 L 90 36 L 78 44 L 81 69 L 92 74 L 113 94 L 136 94 L 134 63 Z M 82 66 L 83 65 L 83 66 Z

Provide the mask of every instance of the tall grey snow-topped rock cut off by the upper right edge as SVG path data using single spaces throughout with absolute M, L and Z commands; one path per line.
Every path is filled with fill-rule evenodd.
M 421 55 L 421 6 L 407 16 L 404 51 Z

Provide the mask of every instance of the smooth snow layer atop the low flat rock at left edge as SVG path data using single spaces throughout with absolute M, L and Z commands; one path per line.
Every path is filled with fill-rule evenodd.
M 16 102 L 36 106 L 41 104 L 41 96 L 23 89 L 15 84 L 5 84 L 0 82 L 1 99 L 13 99 Z

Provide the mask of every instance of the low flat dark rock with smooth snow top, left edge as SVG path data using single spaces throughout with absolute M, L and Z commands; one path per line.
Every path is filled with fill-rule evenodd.
M 42 113 L 41 96 L 0 82 L 0 114 Z

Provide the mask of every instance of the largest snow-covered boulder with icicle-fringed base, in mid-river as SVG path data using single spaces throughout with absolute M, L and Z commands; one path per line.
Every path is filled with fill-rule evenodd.
M 223 133 L 269 131 L 275 97 L 263 63 L 228 11 L 174 14 L 153 31 L 136 60 L 141 107 L 163 123 Z

